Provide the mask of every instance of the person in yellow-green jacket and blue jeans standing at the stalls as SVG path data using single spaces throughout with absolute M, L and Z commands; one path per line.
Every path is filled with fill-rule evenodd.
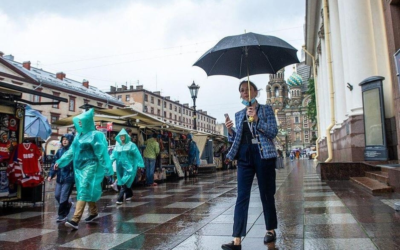
M 160 152 L 160 145 L 157 141 L 157 133 L 153 133 L 152 137 L 145 141 L 146 148 L 143 150 L 146 168 L 146 186 L 156 186 L 154 182 L 154 168 L 156 165 L 156 158 Z

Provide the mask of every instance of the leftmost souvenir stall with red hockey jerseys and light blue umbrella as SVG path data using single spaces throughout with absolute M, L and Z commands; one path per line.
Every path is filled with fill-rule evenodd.
M 39 105 L 22 98 L 23 92 L 53 98 L 59 103 L 67 99 L 0 82 L 0 201 L 44 202 L 43 139 L 51 134 L 47 118 L 25 103 Z M 25 103 L 23 103 L 25 102 Z

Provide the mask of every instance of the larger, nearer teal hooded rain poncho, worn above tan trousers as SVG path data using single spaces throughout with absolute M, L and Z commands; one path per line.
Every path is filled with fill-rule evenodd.
M 65 167 L 73 161 L 77 200 L 95 202 L 102 194 L 104 175 L 112 175 L 114 171 L 106 136 L 96 130 L 93 117 L 94 110 L 91 108 L 72 119 L 77 135 L 70 148 L 56 162 L 59 167 Z

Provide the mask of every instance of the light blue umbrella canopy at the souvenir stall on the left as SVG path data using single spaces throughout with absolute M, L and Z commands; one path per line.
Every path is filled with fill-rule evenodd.
M 25 133 L 32 137 L 46 140 L 52 134 L 52 127 L 47 117 L 30 106 L 25 107 Z

